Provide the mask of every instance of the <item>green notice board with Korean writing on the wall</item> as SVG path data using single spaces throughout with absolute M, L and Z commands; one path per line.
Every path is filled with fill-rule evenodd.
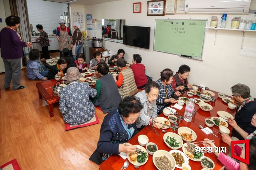
M 154 50 L 202 60 L 207 21 L 156 19 Z

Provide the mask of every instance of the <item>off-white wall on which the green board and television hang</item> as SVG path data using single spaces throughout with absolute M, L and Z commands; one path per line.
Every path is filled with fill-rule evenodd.
M 215 31 L 207 30 L 203 49 L 203 61 L 153 51 L 155 19 L 191 18 L 208 19 L 210 21 L 211 16 L 218 16 L 220 20 L 220 14 L 147 16 L 147 0 L 141 0 L 141 13 L 133 13 L 134 2 L 137 2 L 137 0 L 122 0 L 85 6 L 85 14 L 92 14 L 92 18 L 125 19 L 126 25 L 151 27 L 149 50 L 104 41 L 104 47 L 110 49 L 112 54 L 115 54 L 118 49 L 123 48 L 125 50 L 125 59 L 130 63 L 134 53 L 141 54 L 142 63 L 146 66 L 146 74 L 153 77 L 153 80 L 157 80 L 160 77 L 160 71 L 165 68 L 170 68 L 177 72 L 181 64 L 187 64 L 191 68 L 188 78 L 191 84 L 203 84 L 212 90 L 231 95 L 230 87 L 236 83 L 243 83 L 251 88 L 251 95 L 256 97 L 256 59 L 240 56 L 239 54 L 243 32 L 218 31 L 216 45 L 214 45 Z M 254 17 L 253 14 L 228 14 L 226 28 L 230 27 L 230 20 L 235 16 Z M 209 24 L 210 22 L 208 22 Z M 89 35 L 92 36 L 92 33 L 89 32 Z M 97 32 L 97 37 L 100 36 L 101 33 Z M 244 47 L 255 49 L 255 44 L 256 33 L 246 32 Z

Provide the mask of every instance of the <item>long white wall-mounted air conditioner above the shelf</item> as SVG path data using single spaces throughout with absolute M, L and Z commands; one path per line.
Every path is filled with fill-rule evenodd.
M 251 0 L 186 0 L 186 13 L 248 14 Z

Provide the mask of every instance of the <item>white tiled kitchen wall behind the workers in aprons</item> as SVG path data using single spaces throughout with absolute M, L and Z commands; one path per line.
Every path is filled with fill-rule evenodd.
M 53 30 L 59 26 L 58 20 L 60 16 L 64 11 L 68 11 L 67 7 L 65 3 L 27 0 L 29 22 L 33 24 L 33 31 L 39 33 L 36 25 L 41 24 L 46 33 L 53 34 Z

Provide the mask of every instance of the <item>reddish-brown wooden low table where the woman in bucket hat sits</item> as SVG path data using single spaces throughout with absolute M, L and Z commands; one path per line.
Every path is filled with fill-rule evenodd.
M 92 77 L 92 76 L 93 76 L 93 74 L 91 74 L 89 76 L 84 76 L 84 77 Z M 59 101 L 59 96 L 54 96 L 53 95 L 53 88 L 52 87 L 54 86 L 54 83 L 56 81 L 57 80 L 52 79 L 52 80 L 41 81 L 41 82 L 36 83 L 39 99 L 44 98 L 45 101 L 47 102 L 47 104 L 49 106 L 50 117 L 54 117 L 53 104 Z M 59 80 L 59 81 L 62 82 L 62 80 Z M 95 88 L 95 85 L 92 85 L 90 87 Z

